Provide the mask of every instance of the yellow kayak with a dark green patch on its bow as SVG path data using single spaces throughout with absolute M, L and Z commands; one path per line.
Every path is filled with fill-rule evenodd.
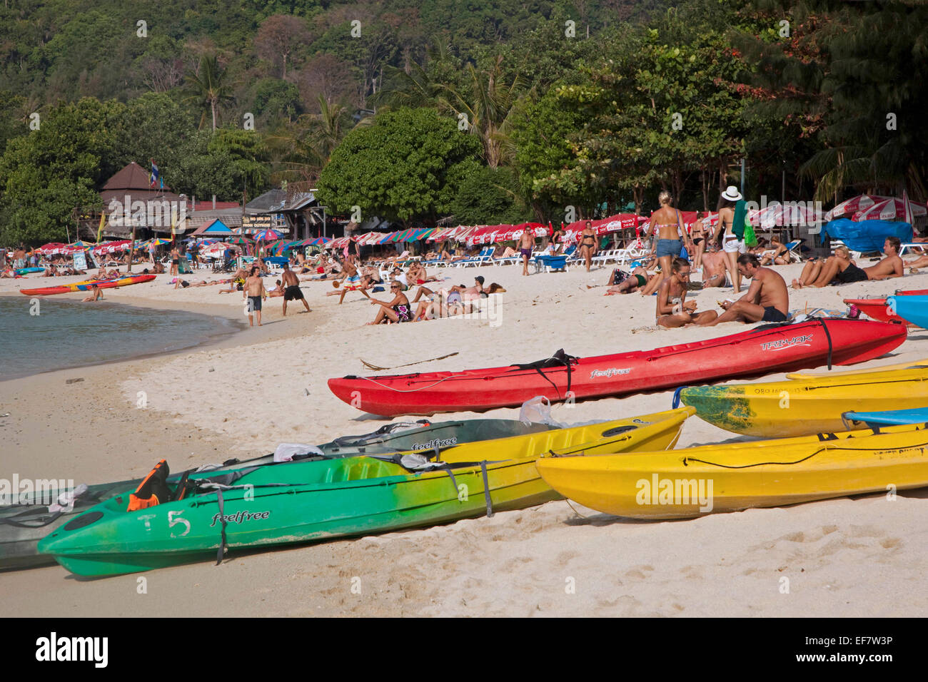
M 906 366 L 909 367 L 909 366 Z M 928 405 L 928 366 L 839 373 L 767 383 L 688 386 L 680 401 L 727 431 L 788 438 L 847 428 L 844 412 L 878 412 Z

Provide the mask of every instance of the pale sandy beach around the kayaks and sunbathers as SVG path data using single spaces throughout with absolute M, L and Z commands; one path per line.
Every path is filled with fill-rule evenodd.
M 802 265 L 778 266 L 789 282 Z M 375 307 L 360 293 L 338 305 L 325 281 L 303 282 L 313 308 L 264 304 L 264 326 L 202 347 L 95 367 L 0 381 L 0 477 L 101 483 L 142 476 L 165 457 L 172 470 L 253 457 L 278 443 L 315 444 L 374 431 L 385 420 L 355 410 L 326 385 L 331 377 L 384 368 L 457 370 L 523 363 L 559 348 L 609 354 L 741 331 L 654 328 L 654 299 L 604 297 L 612 266 L 521 277 L 519 266 L 432 271 L 445 284 L 498 282 L 499 316 L 365 327 Z M 206 271 L 203 271 L 206 272 Z M 191 280 L 212 279 L 199 273 Z M 273 281 L 275 277 L 272 277 Z M 75 278 L 76 279 L 76 278 Z M 174 290 L 170 277 L 106 292 L 107 300 L 246 321 L 238 293 Z M 68 281 L 60 278 L 61 281 Z M 698 277 L 697 277 L 698 280 Z M 43 286 L 0 281 L 0 295 Z M 56 283 L 59 283 L 56 281 Z M 587 289 L 595 285 L 593 289 Z M 746 284 L 744 285 L 746 289 Z M 844 298 L 928 288 L 928 274 L 820 290 L 791 290 L 791 309 L 844 310 Z M 377 294 L 375 294 L 376 296 Z M 80 300 L 83 293 L 58 296 Z M 385 294 L 380 294 L 384 297 Z M 731 290 L 690 292 L 699 310 Z M 454 354 L 442 360 L 439 356 Z M 928 331 L 913 328 L 892 355 L 858 367 L 928 357 Z M 822 368 L 821 371 L 824 371 Z M 765 380 L 778 380 L 781 374 Z M 81 378 L 83 381 L 67 383 Z M 144 393 L 145 406 L 138 406 Z M 556 405 L 563 423 L 629 417 L 669 408 L 672 392 Z M 518 418 L 496 409 L 490 418 Z M 472 413 L 440 418 L 473 418 Z M 742 438 L 690 418 L 677 447 Z M 6 615 L 476 615 L 476 616 L 920 616 L 928 560 L 928 489 L 753 509 L 692 521 L 626 521 L 565 501 L 492 519 L 353 540 L 233 550 L 212 562 L 85 580 L 60 566 L 0 573 Z M 780 591 L 781 578 L 790 591 Z M 354 580 L 359 578 L 359 581 Z M 353 585 L 360 585 L 352 590 Z M 153 598 L 152 598 L 153 597 Z

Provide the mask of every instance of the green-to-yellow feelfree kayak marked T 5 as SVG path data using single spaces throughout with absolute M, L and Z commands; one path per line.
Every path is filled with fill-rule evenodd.
M 226 547 L 266 547 L 530 507 L 559 497 L 535 467 L 544 447 L 563 446 L 555 452 L 564 454 L 671 447 L 690 414 L 684 408 L 459 445 L 442 454 L 450 472 L 415 473 L 375 457 L 261 467 L 223 493 L 222 511 L 214 492 L 133 512 L 125 511 L 128 495 L 117 495 L 48 534 L 39 551 L 72 573 L 109 575 L 215 557 L 223 519 Z

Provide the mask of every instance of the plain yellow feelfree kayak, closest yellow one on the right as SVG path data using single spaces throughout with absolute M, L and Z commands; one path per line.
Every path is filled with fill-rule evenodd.
M 546 457 L 537 469 L 558 493 L 636 519 L 710 512 L 928 485 L 928 424 L 843 431 L 673 452 Z

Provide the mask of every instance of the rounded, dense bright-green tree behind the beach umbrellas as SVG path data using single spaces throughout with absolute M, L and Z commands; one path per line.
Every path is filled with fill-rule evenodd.
M 434 221 L 451 210 L 480 142 L 431 109 L 397 109 L 345 135 L 319 175 L 318 194 L 335 212 Z

